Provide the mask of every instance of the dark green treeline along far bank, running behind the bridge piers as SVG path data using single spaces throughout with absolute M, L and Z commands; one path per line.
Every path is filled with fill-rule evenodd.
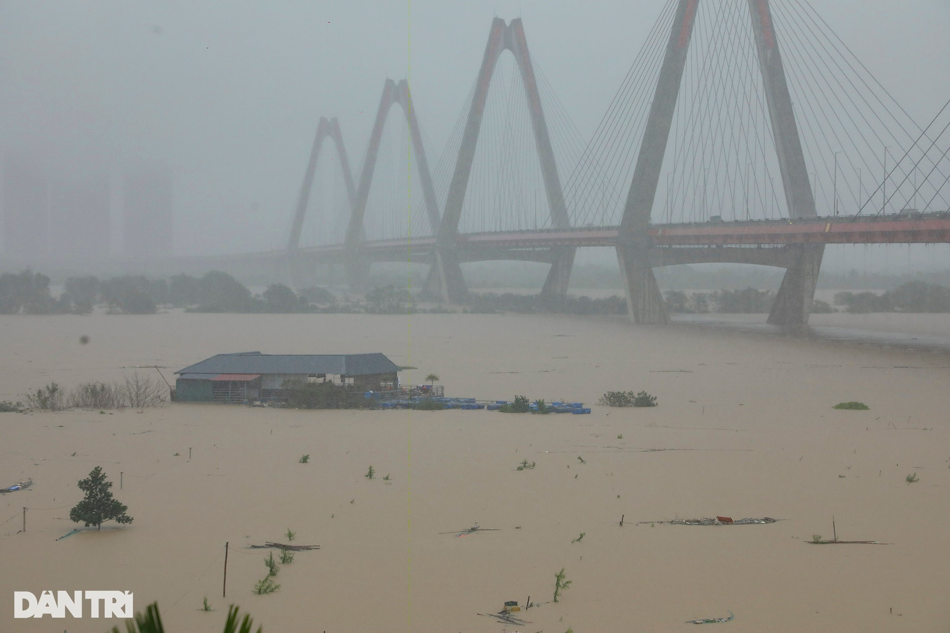
M 667 310 L 674 314 L 761 314 L 775 301 L 774 290 L 747 288 L 664 293 Z M 458 308 L 428 309 L 415 306 L 417 297 L 409 289 L 385 286 L 371 289 L 362 298 L 338 298 L 328 289 L 314 287 L 295 292 L 283 284 L 271 284 L 255 294 L 232 275 L 218 270 L 200 277 L 178 274 L 168 279 L 126 275 L 99 279 L 86 275 L 69 277 L 56 298 L 49 289 L 49 277 L 23 270 L 0 274 L 0 314 L 87 314 L 104 305 L 114 314 L 153 314 L 160 306 L 183 307 L 190 312 L 239 313 L 445 313 Z M 950 312 L 950 289 L 923 281 L 909 281 L 883 293 L 838 292 L 833 307 L 815 300 L 811 311 L 826 313 L 866 312 Z M 627 313 L 626 300 L 618 295 L 601 299 L 587 296 L 542 297 L 540 294 L 506 292 L 472 293 L 463 312 L 501 312 L 621 315 Z

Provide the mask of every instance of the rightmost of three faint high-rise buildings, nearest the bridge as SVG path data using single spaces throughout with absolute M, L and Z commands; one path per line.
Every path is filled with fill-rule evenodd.
M 123 251 L 127 257 L 172 254 L 172 173 L 156 162 L 140 162 L 123 177 Z

